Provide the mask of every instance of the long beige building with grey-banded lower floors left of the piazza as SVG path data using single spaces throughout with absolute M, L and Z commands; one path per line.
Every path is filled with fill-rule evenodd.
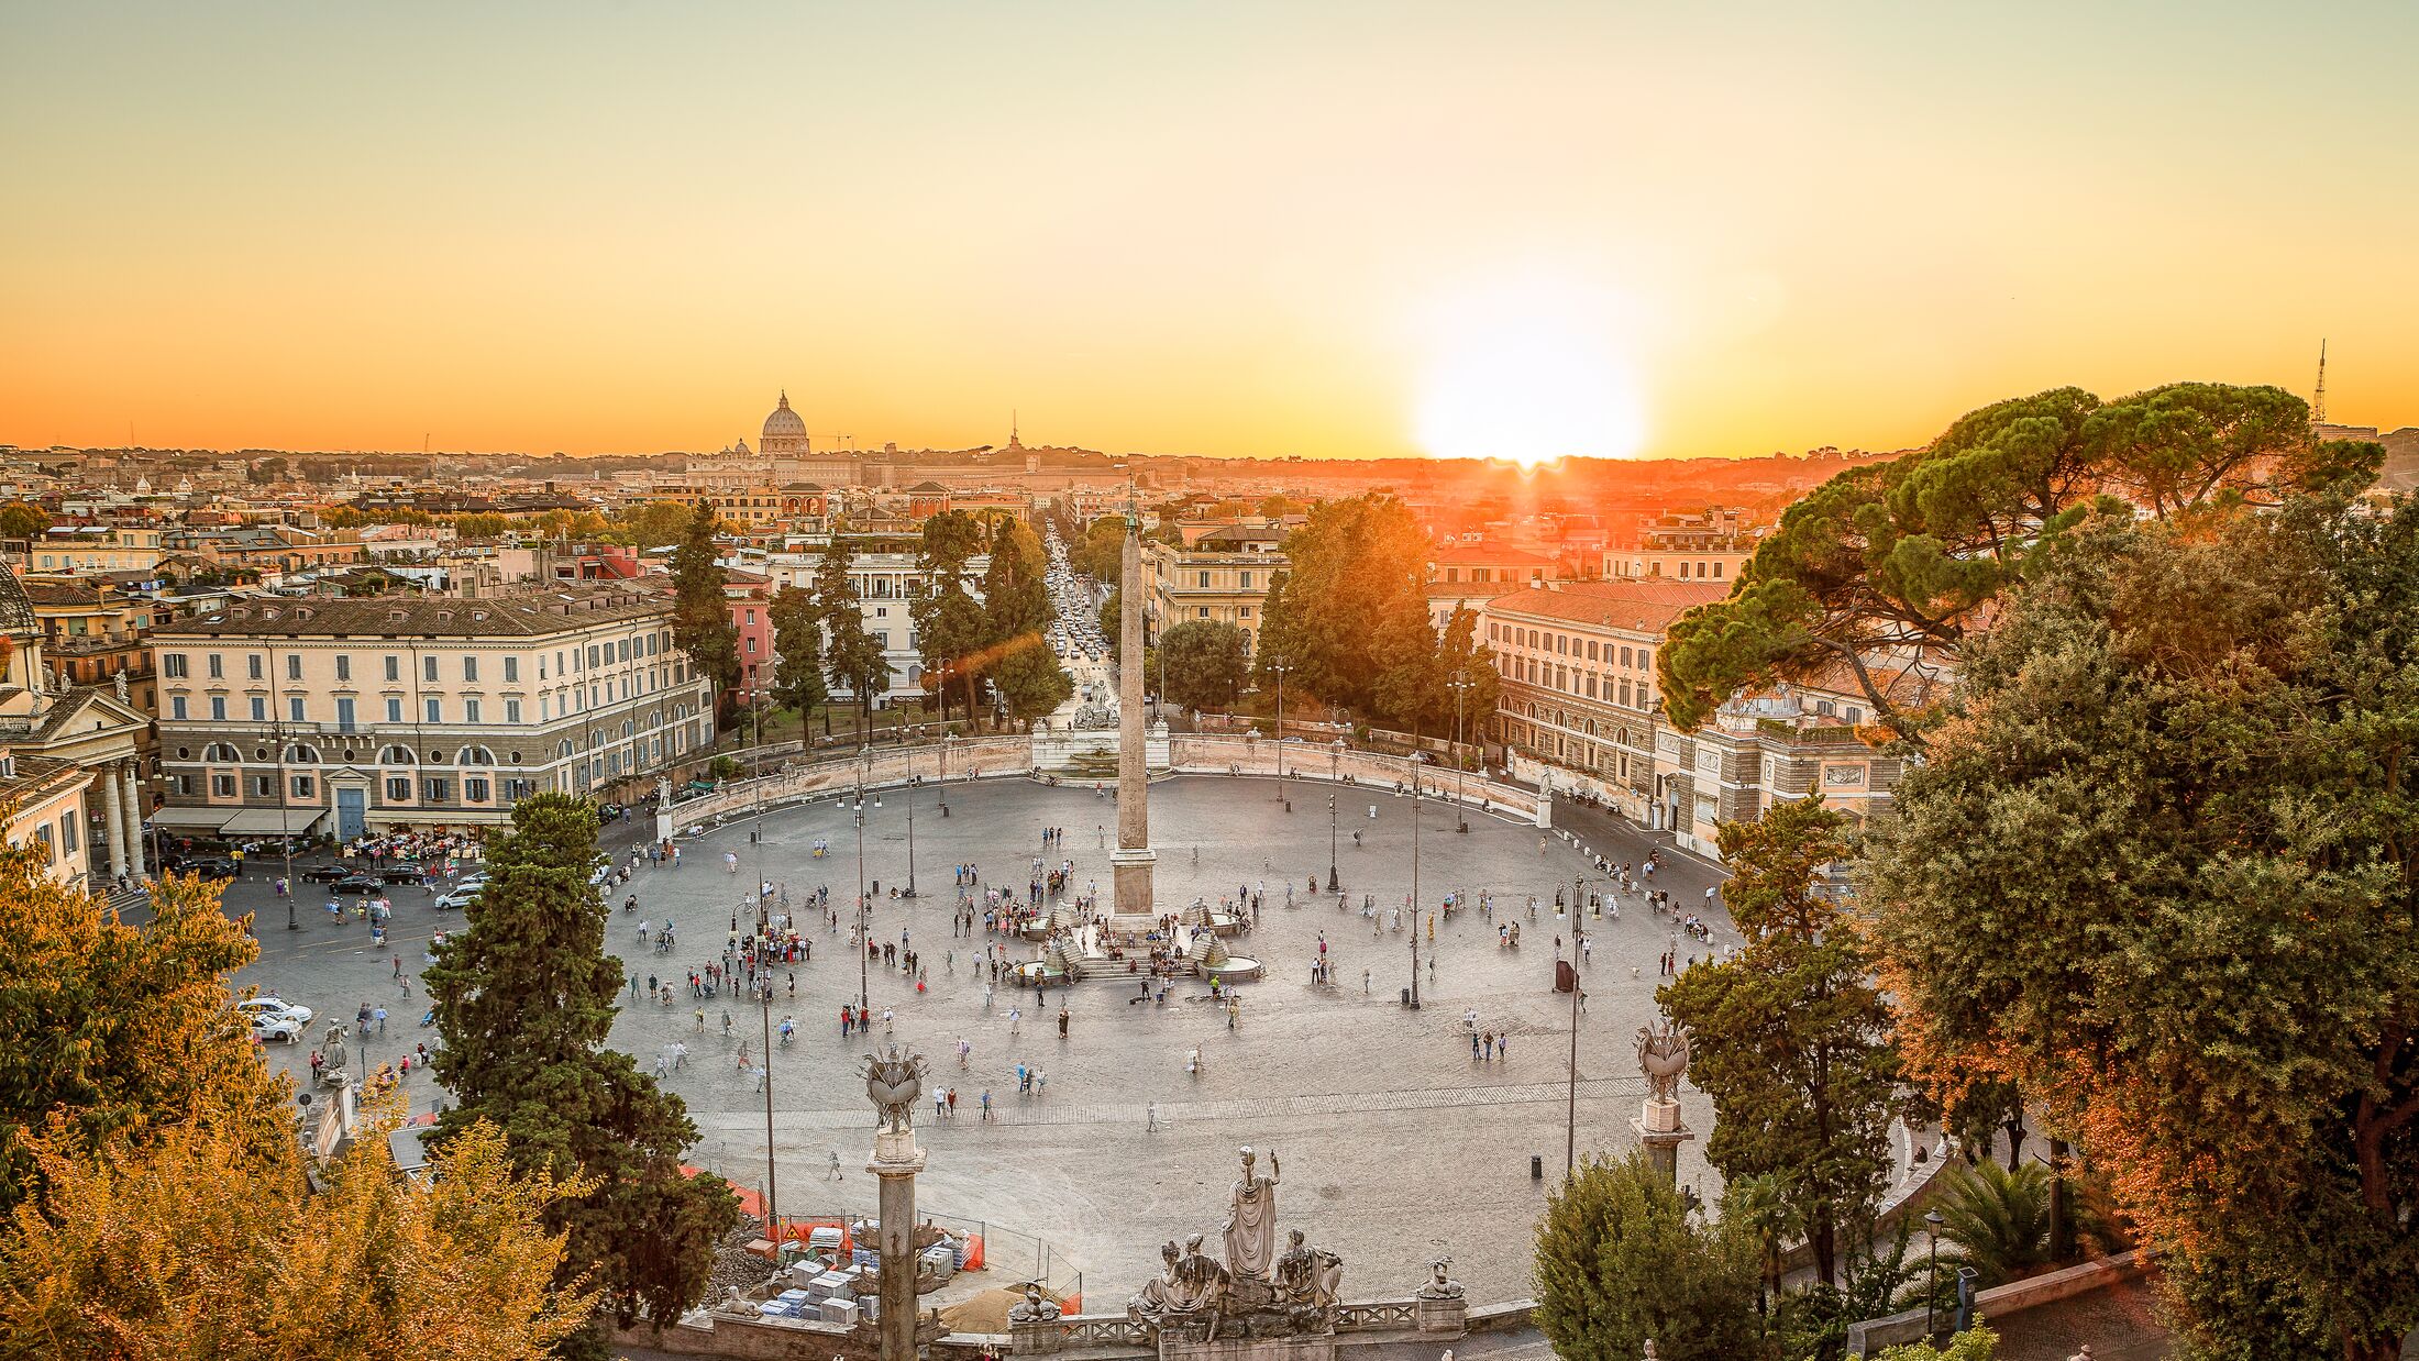
M 477 827 L 532 793 L 629 793 L 714 740 L 672 602 L 256 600 L 152 631 L 169 829 Z

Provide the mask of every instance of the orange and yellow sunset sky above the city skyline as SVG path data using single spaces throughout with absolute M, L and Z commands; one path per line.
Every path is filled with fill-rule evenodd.
M 2419 423 L 2419 5 L 0 5 L 0 442 Z

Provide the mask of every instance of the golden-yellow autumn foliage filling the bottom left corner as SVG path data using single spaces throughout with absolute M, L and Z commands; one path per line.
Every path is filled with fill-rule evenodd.
M 293 1134 L 247 1127 L 203 1098 L 143 1139 L 34 1139 L 48 1214 L 0 1240 L 0 1356 L 539 1361 L 588 1322 L 542 1221 L 593 1187 L 513 1172 L 493 1124 L 409 1182 L 382 1114 L 310 1192 Z

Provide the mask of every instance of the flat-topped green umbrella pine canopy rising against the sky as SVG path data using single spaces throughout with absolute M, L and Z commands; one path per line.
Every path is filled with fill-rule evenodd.
M 1672 624 L 1664 713 L 1693 730 L 1742 689 L 1851 667 L 1875 713 L 1921 740 L 1867 667 L 1952 662 L 2001 592 L 2097 503 L 2146 515 L 2276 505 L 2366 486 L 2385 452 L 2313 440 L 2276 387 L 2180 382 L 2119 401 L 2061 387 L 1971 411 L 1923 450 L 1843 471 L 1788 508 L 1730 597 Z

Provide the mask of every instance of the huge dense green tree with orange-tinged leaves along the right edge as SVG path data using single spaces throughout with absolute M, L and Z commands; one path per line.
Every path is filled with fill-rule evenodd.
M 2409 500 L 2092 517 L 1967 648 L 1867 865 L 1911 1066 L 2080 1136 L 2209 1356 L 2419 1327 L 2414 752 Z

